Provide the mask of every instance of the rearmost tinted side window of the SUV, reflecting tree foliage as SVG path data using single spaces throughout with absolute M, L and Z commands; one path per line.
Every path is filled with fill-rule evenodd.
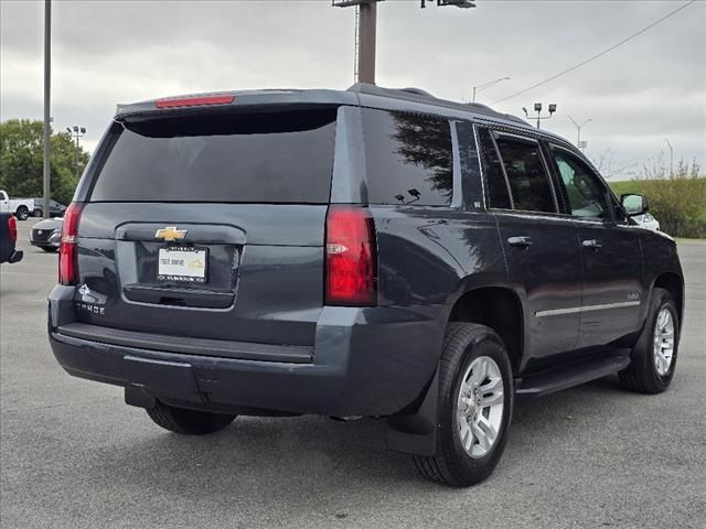
M 371 204 L 451 204 L 453 149 L 448 119 L 363 109 L 363 136 Z

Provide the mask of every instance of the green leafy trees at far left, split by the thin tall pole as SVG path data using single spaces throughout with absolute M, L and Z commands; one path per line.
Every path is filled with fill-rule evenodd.
M 42 196 L 43 123 L 30 119 L 0 122 L 0 188 L 10 196 Z M 68 204 L 76 188 L 76 144 L 68 132 L 52 133 L 50 177 L 52 198 Z M 78 170 L 88 163 L 88 153 L 79 148 Z

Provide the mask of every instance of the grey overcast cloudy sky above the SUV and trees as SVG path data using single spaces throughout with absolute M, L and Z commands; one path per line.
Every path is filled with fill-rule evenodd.
M 0 0 L 0 118 L 42 119 L 43 3 Z M 571 67 L 686 3 L 500 1 L 477 9 L 429 1 L 378 6 L 377 84 L 495 101 Z M 85 126 L 93 149 L 117 102 L 263 87 L 346 88 L 353 82 L 354 10 L 330 0 L 54 1 L 54 127 Z M 493 105 L 522 115 L 556 102 L 543 127 L 576 141 L 582 122 L 595 161 L 624 175 L 660 155 L 706 164 L 706 1 L 597 61 Z M 606 163 L 606 162 L 603 162 Z

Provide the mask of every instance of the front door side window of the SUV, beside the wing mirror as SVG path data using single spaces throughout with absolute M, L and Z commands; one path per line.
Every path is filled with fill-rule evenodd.
M 569 213 L 577 217 L 608 218 L 606 190 L 590 169 L 564 150 L 553 149 L 553 153 L 569 199 Z

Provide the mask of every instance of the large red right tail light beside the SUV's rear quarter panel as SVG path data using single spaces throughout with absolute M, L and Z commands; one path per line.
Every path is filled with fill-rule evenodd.
M 327 216 L 329 305 L 365 306 L 377 298 L 375 226 L 364 207 L 331 206 Z

